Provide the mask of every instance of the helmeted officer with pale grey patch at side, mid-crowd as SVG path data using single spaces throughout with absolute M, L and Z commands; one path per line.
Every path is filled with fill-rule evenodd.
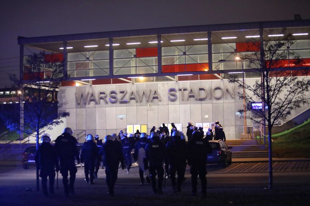
M 150 182 L 148 162 L 146 161 L 145 147 L 148 143 L 147 134 L 141 133 L 140 139 L 134 145 L 134 159 L 139 165 L 140 184 L 144 184 L 144 173 L 146 174 L 146 182 Z

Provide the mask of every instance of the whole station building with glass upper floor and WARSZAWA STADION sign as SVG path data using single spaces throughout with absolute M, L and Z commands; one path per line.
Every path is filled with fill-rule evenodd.
M 75 133 L 149 133 L 162 123 L 186 133 L 189 121 L 206 130 L 218 120 L 227 139 L 240 139 L 252 122 L 245 125 L 238 112 L 242 89 L 229 83 L 230 74 L 247 84 L 261 81 L 259 63 L 244 57 L 264 61 L 257 53 L 280 39 L 288 45 L 277 52 L 286 57 L 274 69 L 306 71 L 298 75 L 308 78 L 309 33 L 310 20 L 292 20 L 19 37 L 20 76 L 24 84 L 34 81 L 25 60 L 29 51 L 63 62 L 59 109 L 70 112 L 65 126 Z M 42 80 L 50 72 L 42 67 Z M 287 120 L 308 108 L 292 111 Z

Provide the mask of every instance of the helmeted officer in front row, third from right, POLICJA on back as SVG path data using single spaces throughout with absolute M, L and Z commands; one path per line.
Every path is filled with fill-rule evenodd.
M 164 158 L 165 158 L 165 145 L 160 140 L 158 133 L 151 134 L 151 141 L 146 145 L 146 158 L 150 164 L 150 177 L 152 182 L 153 193 L 162 194 L 162 186 L 164 180 Z M 158 176 L 158 185 L 156 188 L 156 174 Z

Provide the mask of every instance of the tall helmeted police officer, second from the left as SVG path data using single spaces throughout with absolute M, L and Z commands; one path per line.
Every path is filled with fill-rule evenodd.
M 75 159 L 80 163 L 79 151 L 77 150 L 77 141 L 72 136 L 72 129 L 69 127 L 64 128 L 62 135 L 55 140 L 56 153 L 60 159 L 62 184 L 65 196 L 74 195 L 74 181 L 77 168 L 75 166 Z M 70 174 L 68 182 L 68 172 Z

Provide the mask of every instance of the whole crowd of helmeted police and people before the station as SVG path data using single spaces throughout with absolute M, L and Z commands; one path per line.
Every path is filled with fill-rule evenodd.
M 213 130 L 208 131 L 204 137 L 202 128 L 195 128 L 188 122 L 186 137 L 178 131 L 174 124 L 171 131 L 163 124 L 155 131 L 154 126 L 150 135 L 139 130 L 127 136 L 122 130 L 120 133 L 107 135 L 104 142 L 91 134 L 86 136 L 81 153 L 77 149 L 77 141 L 72 136 L 73 131 L 67 127 L 62 135 L 57 137 L 55 146 L 50 144 L 50 136 L 42 136 L 42 144 L 36 154 L 36 163 L 40 169 L 43 194 L 54 194 L 55 168 L 62 174 L 62 183 L 65 196 L 74 195 L 74 181 L 77 164 L 84 163 L 85 182 L 94 184 L 98 176 L 100 162 L 106 173 L 108 194 L 114 196 L 114 186 L 118 178 L 118 170 L 121 167 L 129 174 L 132 163 L 139 166 L 140 184 L 151 182 L 153 193 L 163 193 L 162 188 L 165 178 L 171 179 L 173 192 L 182 191 L 181 186 L 185 180 L 186 165 L 190 166 L 192 195 L 197 193 L 197 177 L 201 181 L 201 194 L 206 197 L 206 156 L 212 151 L 208 140 L 218 139 L 224 136 L 221 133 L 223 127 L 215 122 Z M 222 129 L 221 129 L 222 128 Z M 220 131 L 220 132 L 219 132 Z M 211 134 L 208 134 L 211 133 Z M 171 134 L 171 135 L 170 135 Z M 222 136 L 221 136 L 222 135 Z M 212 138 L 209 139 L 211 136 Z M 144 175 L 146 178 L 144 178 Z M 177 177 L 176 177 L 177 175 Z M 69 176 L 69 179 L 68 179 Z M 49 177 L 49 193 L 47 178 Z M 157 177 L 157 178 L 156 178 Z

